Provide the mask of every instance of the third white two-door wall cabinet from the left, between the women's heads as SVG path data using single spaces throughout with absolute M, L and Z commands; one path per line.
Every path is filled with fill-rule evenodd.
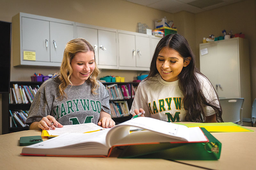
M 119 69 L 149 70 L 150 46 L 149 35 L 118 30 Z

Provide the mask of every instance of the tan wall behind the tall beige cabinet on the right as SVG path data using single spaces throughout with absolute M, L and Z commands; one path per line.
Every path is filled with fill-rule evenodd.
M 244 33 L 249 40 L 250 76 L 251 76 L 251 102 L 256 98 L 256 1 L 245 0 L 228 6 L 205 11 L 195 15 L 196 25 L 196 56 L 199 57 L 199 43 L 203 37 L 214 34 L 221 36 L 222 30 L 233 30 L 235 33 Z M 199 67 L 199 60 L 197 60 Z M 227 63 L 229 64 L 229 63 Z M 250 113 L 243 115 L 250 116 Z

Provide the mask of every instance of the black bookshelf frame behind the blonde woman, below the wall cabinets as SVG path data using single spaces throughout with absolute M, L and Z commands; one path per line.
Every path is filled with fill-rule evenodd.
M 18 85 L 42 85 L 43 82 L 29 82 L 29 81 L 11 81 L 10 87 L 12 87 L 12 84 L 18 84 Z M 111 85 L 111 84 L 117 84 L 117 85 L 125 85 L 125 84 L 131 84 L 134 86 L 137 86 L 138 83 L 133 82 L 104 82 L 103 85 Z M 132 89 L 131 89 L 132 90 Z M 128 107 L 131 109 L 133 98 L 130 99 L 123 99 L 123 100 L 110 100 L 110 101 L 124 101 L 127 100 Z M 9 110 L 29 110 L 31 104 L 9 104 L 9 93 L 3 93 L 2 94 L 2 134 L 7 134 L 11 132 L 17 132 L 22 130 L 28 130 L 28 127 L 12 127 L 10 128 L 10 113 Z M 116 124 L 127 121 L 132 118 L 132 115 L 124 116 L 124 117 L 116 117 L 112 118 Z

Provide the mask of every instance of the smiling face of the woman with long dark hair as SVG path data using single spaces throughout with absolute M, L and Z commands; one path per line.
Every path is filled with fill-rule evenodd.
M 178 75 L 187 65 L 177 51 L 168 47 L 162 48 L 156 59 L 159 74 L 164 81 L 168 82 L 178 80 Z

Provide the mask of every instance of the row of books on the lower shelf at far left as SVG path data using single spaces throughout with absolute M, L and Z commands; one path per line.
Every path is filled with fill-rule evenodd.
M 28 110 L 9 110 L 10 116 L 10 127 L 26 127 L 28 126 L 25 124 L 27 117 L 28 117 Z

